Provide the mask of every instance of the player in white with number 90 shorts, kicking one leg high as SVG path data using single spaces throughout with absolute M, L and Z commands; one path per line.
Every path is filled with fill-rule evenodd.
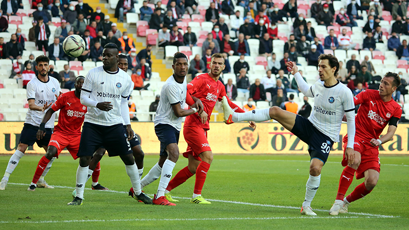
M 355 105 L 352 92 L 335 78 L 339 70 L 339 62 L 335 56 L 322 54 L 319 60 L 318 72 L 320 80 L 316 81 L 312 86 L 309 86 L 298 73 L 296 63 L 287 62 L 287 69 L 296 78 L 302 93 L 307 97 L 315 98 L 314 107 L 308 119 L 282 110 L 277 106 L 237 113 L 230 108 L 226 98 L 223 98 L 224 121 L 226 124 L 238 121 L 263 122 L 274 119 L 309 145 L 308 152 L 311 156 L 310 175 L 301 209 L 301 214 L 308 216 L 316 216 L 311 209 L 311 201 L 320 187 L 321 169 L 327 161 L 331 147 L 334 142 L 339 142 L 339 131 L 344 114 L 348 118 L 346 156 L 349 163 L 354 162 Z

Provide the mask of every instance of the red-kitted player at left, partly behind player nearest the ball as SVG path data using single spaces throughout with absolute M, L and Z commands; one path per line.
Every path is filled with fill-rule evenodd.
M 84 79 L 85 78 L 83 76 L 78 76 L 75 79 L 75 90 L 62 94 L 51 106 L 51 109 L 49 109 L 44 115 L 40 128 L 37 132 L 38 140 L 41 140 L 42 137 L 46 135 L 44 125 L 50 120 L 51 115 L 60 110 L 58 124 L 55 126 L 54 132 L 51 135 L 47 153 L 41 157 L 40 161 L 38 162 L 37 169 L 28 191 L 35 191 L 37 181 L 44 169 L 46 169 L 47 164 L 54 156 L 58 157 L 63 149 L 67 148 L 74 159 L 78 158 L 77 152 L 80 145 L 81 125 L 84 122 L 84 115 L 87 111 L 86 106 L 82 105 L 80 102 L 81 88 L 82 84 L 84 83 Z M 103 151 L 105 152 L 105 150 Z M 95 173 L 99 176 L 100 163 L 98 162 L 96 164 L 97 168 Z M 98 181 L 98 176 L 96 181 Z M 100 184 L 93 186 L 93 189 L 107 190 L 107 188 L 101 186 Z

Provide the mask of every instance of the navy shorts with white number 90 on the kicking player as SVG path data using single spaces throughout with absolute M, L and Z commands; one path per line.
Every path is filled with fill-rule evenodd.
M 296 123 L 291 130 L 294 135 L 308 144 L 308 152 L 311 159 L 318 158 L 324 164 L 327 162 L 329 152 L 331 151 L 334 142 L 320 130 L 315 128 L 312 123 L 299 115 L 297 115 Z

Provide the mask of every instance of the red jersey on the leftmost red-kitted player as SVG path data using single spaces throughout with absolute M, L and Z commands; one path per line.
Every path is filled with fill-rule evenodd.
M 54 131 L 59 131 L 68 135 L 81 134 L 81 125 L 84 123 L 86 106 L 81 104 L 79 98 L 75 96 L 75 91 L 62 94 L 61 97 L 51 106 L 54 111 L 60 110 L 58 124 Z

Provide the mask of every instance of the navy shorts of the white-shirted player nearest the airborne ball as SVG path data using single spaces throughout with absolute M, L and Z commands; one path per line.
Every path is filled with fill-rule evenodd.
M 98 148 L 106 149 L 109 156 L 132 153 L 122 124 L 102 126 L 84 122 L 77 156 L 92 156 Z

